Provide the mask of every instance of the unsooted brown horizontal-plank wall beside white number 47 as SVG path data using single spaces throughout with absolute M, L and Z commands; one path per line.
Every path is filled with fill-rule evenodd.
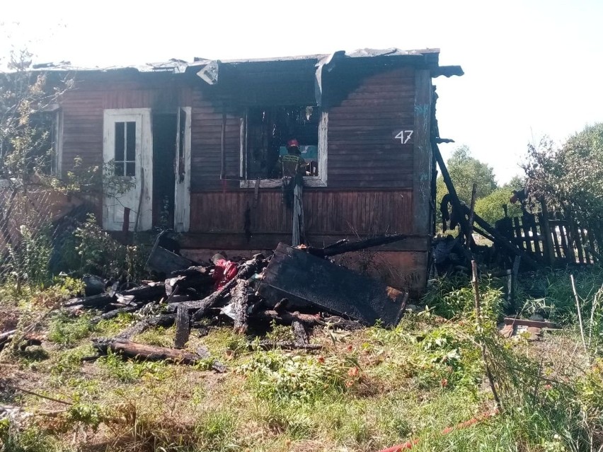
M 328 186 L 413 187 L 415 74 L 369 76 L 328 112 Z

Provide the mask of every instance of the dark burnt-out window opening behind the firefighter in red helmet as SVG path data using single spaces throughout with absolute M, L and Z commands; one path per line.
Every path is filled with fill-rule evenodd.
M 247 178 L 282 177 L 282 157 L 287 141 L 299 141 L 300 169 L 304 175 L 318 176 L 318 124 L 321 109 L 312 105 L 249 108 L 247 112 Z

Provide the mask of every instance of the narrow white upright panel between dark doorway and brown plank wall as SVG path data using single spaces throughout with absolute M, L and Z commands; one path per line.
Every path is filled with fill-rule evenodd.
M 184 125 L 184 180 L 178 182 L 178 165 L 180 164 L 178 159 L 178 147 L 176 148 L 176 161 L 178 164 L 176 168 L 176 186 L 174 187 L 174 231 L 176 232 L 187 232 L 190 229 L 190 124 L 191 114 L 193 108 L 191 107 L 180 107 L 178 109 L 178 122 L 181 120 L 180 110 L 184 110 L 186 113 L 186 120 Z M 180 124 L 178 123 L 178 134 L 176 135 L 180 140 Z M 179 146 L 179 142 L 176 143 Z M 181 225 L 181 226 L 180 226 Z

